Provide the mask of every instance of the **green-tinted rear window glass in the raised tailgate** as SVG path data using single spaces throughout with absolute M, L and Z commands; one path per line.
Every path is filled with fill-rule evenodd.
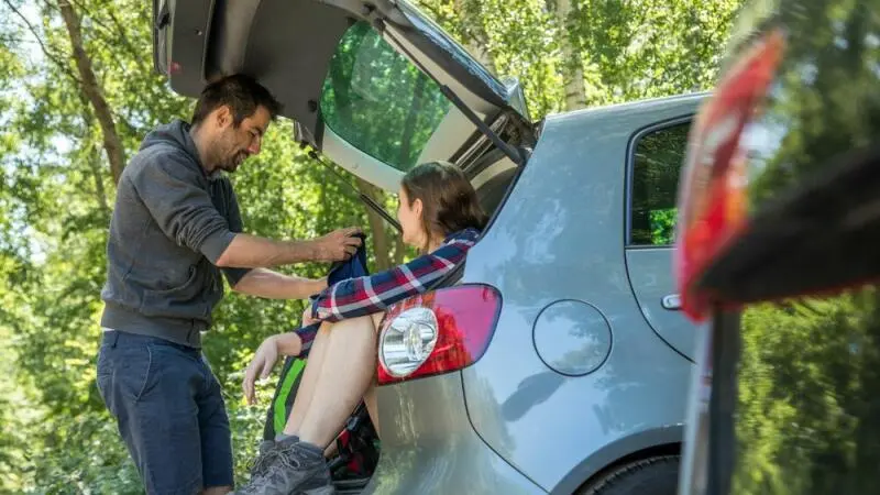
M 337 135 L 406 172 L 416 165 L 451 103 L 436 82 L 360 21 L 337 46 L 320 107 Z

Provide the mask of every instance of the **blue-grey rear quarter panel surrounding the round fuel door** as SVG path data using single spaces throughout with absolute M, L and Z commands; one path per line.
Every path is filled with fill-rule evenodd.
M 462 372 L 468 411 L 486 443 L 544 490 L 574 490 L 561 484 L 581 483 L 626 453 L 607 446 L 631 438 L 641 449 L 680 438 L 691 363 L 647 324 L 630 288 L 625 164 L 635 132 L 692 112 L 698 99 L 549 118 L 516 187 L 468 255 L 462 282 L 493 285 L 504 300 L 486 354 Z M 563 376 L 535 352 L 536 318 L 560 300 L 595 307 L 612 327 L 610 355 L 588 375 Z M 678 437 L 661 435 L 670 431 Z

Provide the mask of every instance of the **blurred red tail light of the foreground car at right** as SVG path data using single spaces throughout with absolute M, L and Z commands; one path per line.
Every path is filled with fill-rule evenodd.
M 682 308 L 694 320 L 704 319 L 711 305 L 696 287 L 700 275 L 748 223 L 748 157 L 740 138 L 761 110 L 783 48 L 779 30 L 754 42 L 718 82 L 689 136 L 674 270 Z

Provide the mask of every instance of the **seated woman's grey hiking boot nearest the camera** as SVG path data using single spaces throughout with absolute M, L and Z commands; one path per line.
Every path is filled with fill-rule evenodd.
M 330 471 L 318 447 L 286 439 L 263 458 L 258 474 L 239 495 L 333 495 Z

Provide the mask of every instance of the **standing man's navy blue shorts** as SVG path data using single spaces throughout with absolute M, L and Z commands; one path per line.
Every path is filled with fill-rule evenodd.
M 198 349 L 105 331 L 98 389 L 148 494 L 232 486 L 229 417 Z

